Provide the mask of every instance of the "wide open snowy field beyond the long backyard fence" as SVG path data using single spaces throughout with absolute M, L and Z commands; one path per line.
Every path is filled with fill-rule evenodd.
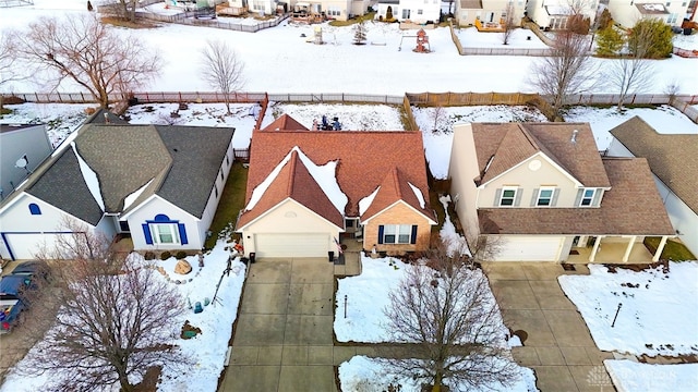
M 158 4 L 153 7 L 157 8 Z M 84 0 L 34 0 L 32 7 L 2 9 L 0 26 L 25 28 L 39 16 L 52 16 L 65 12 L 87 12 Z M 314 26 L 293 25 L 287 22 L 278 27 L 258 33 L 242 33 L 209 27 L 164 24 L 137 32 L 119 29 L 119 33 L 136 33 L 146 44 L 157 48 L 165 60 L 160 75 L 146 89 L 161 91 L 208 90 L 209 86 L 198 76 L 198 52 L 206 39 L 221 39 L 236 49 L 245 62 L 244 78 L 248 91 L 269 93 L 356 93 L 400 95 L 405 91 L 522 91 L 530 93 L 528 74 L 533 57 L 515 56 L 459 56 L 445 27 L 428 30 L 429 54 L 416 53 L 413 30 L 400 32 L 397 24 L 366 23 L 369 44 L 352 45 L 351 27 L 333 27 L 322 24 L 325 45 L 306 42 L 313 37 Z M 468 34 L 469 45 L 491 46 L 496 34 Z M 517 30 L 515 37 L 528 36 Z M 476 38 L 473 38 L 476 37 Z M 495 37 L 495 38 L 493 38 Z M 483 40 L 478 44 L 477 40 Z M 678 39 L 678 37 L 676 38 Z M 695 42 L 696 35 L 681 38 Z M 515 41 L 518 42 L 519 38 Z M 489 42 L 489 44 L 488 44 Z M 525 40 L 526 44 L 533 45 Z M 512 45 L 515 45 L 514 42 Z M 518 44 L 516 44 L 518 45 Z M 401 48 L 401 49 L 400 49 Z M 594 59 L 603 62 L 610 60 Z M 695 60 L 673 57 L 653 61 L 657 72 L 647 93 L 663 93 L 667 85 L 681 81 L 681 94 L 696 94 L 698 78 L 694 77 Z M 47 91 L 50 86 L 38 77 L 24 82 L 7 83 L 4 91 Z M 60 91 L 79 90 L 65 83 Z M 599 86 L 591 93 L 613 93 Z

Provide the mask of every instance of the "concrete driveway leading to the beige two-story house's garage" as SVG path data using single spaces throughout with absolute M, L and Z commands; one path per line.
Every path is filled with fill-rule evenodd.
M 561 274 L 588 274 L 583 265 L 565 271 L 558 264 L 489 262 L 483 270 L 500 304 L 504 322 L 526 331 L 517 363 L 535 371 L 542 392 L 613 390 L 603 367 L 612 353 L 597 348 L 577 308 L 557 283 Z

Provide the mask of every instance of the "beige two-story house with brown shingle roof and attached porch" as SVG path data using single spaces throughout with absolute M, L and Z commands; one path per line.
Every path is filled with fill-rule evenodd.
M 674 235 L 643 158 L 604 158 L 589 124 L 455 127 L 450 197 L 502 261 L 647 262 Z M 650 255 L 645 236 L 661 236 Z

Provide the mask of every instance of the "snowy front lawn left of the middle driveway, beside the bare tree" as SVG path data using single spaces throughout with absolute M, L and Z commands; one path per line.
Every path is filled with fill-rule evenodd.
M 186 304 L 194 306 L 197 302 L 202 305 L 206 301 L 210 302 L 201 314 L 194 314 L 193 310 L 190 310 L 181 319 L 172 320 L 171 336 L 176 338 L 172 338 L 171 343 L 179 345 L 183 354 L 194 359 L 194 364 L 183 371 L 181 369 L 172 371 L 172 369 L 165 368 L 158 384 L 158 390 L 160 391 L 212 392 L 218 385 L 218 377 L 224 368 L 228 341 L 232 334 L 232 323 L 238 314 L 240 294 L 245 277 L 245 266 L 237 258 L 231 264 L 230 275 L 220 280 L 220 286 L 214 302 L 216 285 L 226 270 L 230 255 L 226 250 L 226 246 L 232 246 L 232 244 L 219 241 L 210 253 L 204 255 L 203 268 L 198 267 L 197 256 L 186 257 L 193 268 L 192 272 L 186 275 L 174 273 L 177 260 L 173 257 L 165 261 L 153 260 L 155 266 L 165 269 L 172 281 L 185 281 L 177 284 L 177 287 L 182 297 L 185 298 Z M 132 257 L 141 258 L 136 254 L 132 254 Z M 163 279 L 166 278 L 163 277 Z M 176 283 L 172 282 L 171 284 Z M 193 327 L 201 328 L 202 333 L 193 339 L 180 339 L 179 335 L 184 320 L 189 320 Z M 16 370 L 10 370 L 4 383 L 0 387 L 0 392 L 37 391 L 50 378 L 51 373 L 49 372 L 40 376 L 28 376 L 19 373 Z M 113 388 L 115 391 L 118 391 L 118 385 Z

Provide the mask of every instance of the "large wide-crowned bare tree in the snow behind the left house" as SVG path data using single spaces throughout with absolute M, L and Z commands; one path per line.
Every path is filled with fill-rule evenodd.
M 46 74 L 53 88 L 70 79 L 105 108 L 110 95 L 143 86 L 161 64 L 154 49 L 134 35 L 103 25 L 92 13 L 41 17 L 27 30 L 11 32 L 10 39 L 15 56 L 35 74 Z

